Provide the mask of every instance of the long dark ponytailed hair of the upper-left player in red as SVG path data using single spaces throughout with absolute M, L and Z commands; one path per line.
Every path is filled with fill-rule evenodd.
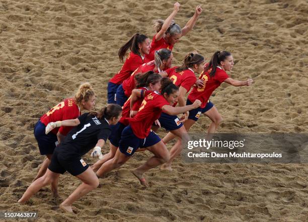
M 124 60 L 124 56 L 125 53 L 128 49 L 130 49 L 130 51 L 132 51 L 134 54 L 140 55 L 138 52 L 138 44 L 144 42 L 144 40 L 147 39 L 147 36 L 136 33 L 135 35 L 133 35 L 130 40 L 128 42 L 126 42 L 120 49 L 118 52 L 120 61 L 123 62 Z

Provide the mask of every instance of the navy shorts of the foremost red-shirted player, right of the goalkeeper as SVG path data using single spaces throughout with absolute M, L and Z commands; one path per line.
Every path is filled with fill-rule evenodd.
M 149 135 L 140 139 L 136 137 L 130 126 L 124 128 L 119 142 L 119 150 L 126 156 L 131 156 L 138 148 L 145 148 L 153 146 L 161 141 L 161 138 L 154 132 L 150 132 Z

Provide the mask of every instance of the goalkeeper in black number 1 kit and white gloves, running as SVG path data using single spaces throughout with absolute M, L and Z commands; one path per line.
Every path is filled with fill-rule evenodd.
M 100 110 L 99 113 L 85 113 L 78 119 L 49 123 L 48 130 L 59 126 L 76 126 L 65 137 L 64 141 L 55 148 L 51 163 L 44 176 L 35 180 L 26 190 L 19 203 L 25 203 L 33 194 L 42 187 L 58 181 L 60 174 L 68 171 L 79 178 L 83 183 L 75 189 L 61 204 L 60 208 L 73 212 L 71 205 L 80 197 L 86 195 L 99 185 L 99 179 L 89 165 L 82 159 L 94 146 L 91 156 L 101 155 L 110 135 L 109 125 L 115 125 L 121 117 L 122 108 L 117 104 L 110 104 Z

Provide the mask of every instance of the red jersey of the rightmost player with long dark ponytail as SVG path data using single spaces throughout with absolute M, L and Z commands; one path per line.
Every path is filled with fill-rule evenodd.
M 208 65 L 208 64 L 206 64 Z M 205 65 L 205 67 L 206 67 Z M 188 99 L 191 102 L 194 102 L 196 99 L 199 99 L 202 104 L 201 108 L 204 108 L 206 106 L 206 103 L 211 96 L 212 92 L 227 78 L 229 78 L 228 74 L 222 70 L 220 67 L 216 67 L 216 72 L 214 76 L 210 77 L 209 72 L 211 69 L 209 69 L 207 72 L 202 72 L 199 76 L 199 79 L 205 81 L 205 86 L 202 88 L 198 88 L 195 86 L 191 92 L 188 95 Z

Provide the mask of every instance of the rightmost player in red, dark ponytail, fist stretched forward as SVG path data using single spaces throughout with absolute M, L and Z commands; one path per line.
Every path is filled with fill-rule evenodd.
M 188 131 L 196 121 L 198 121 L 201 114 L 207 116 L 212 123 L 210 124 L 207 133 L 215 133 L 219 124 L 222 121 L 221 115 L 214 104 L 209 101 L 212 92 L 222 83 L 226 82 L 233 86 L 249 86 L 253 80 L 248 78 L 246 81 L 232 79 L 225 71 L 231 71 L 233 68 L 233 56 L 227 51 L 217 51 L 211 57 L 208 64 L 204 66 L 204 72 L 201 73 L 199 79 L 205 81 L 203 87 L 195 86 L 189 93 L 187 104 L 191 104 L 196 99 L 199 99 L 202 104 L 200 107 L 190 110 L 188 120 L 185 121 L 184 126 Z M 173 135 L 167 135 L 164 139 L 168 142 L 174 138 Z

